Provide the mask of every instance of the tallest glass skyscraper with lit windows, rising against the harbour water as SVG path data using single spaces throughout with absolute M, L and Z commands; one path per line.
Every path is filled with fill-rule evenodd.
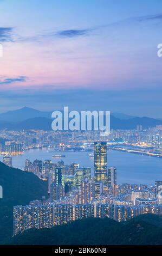
M 106 182 L 107 178 L 107 144 L 94 142 L 94 177 L 95 181 Z

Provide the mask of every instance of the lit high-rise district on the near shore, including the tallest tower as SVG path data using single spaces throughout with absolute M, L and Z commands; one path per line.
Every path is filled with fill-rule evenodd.
M 94 142 L 94 173 L 77 163 L 25 161 L 25 171 L 48 180 L 49 198 L 14 206 L 14 235 L 30 228 L 51 228 L 87 217 L 126 221 L 140 214 L 162 214 L 162 181 L 155 186 L 118 185 L 107 165 L 107 143 Z

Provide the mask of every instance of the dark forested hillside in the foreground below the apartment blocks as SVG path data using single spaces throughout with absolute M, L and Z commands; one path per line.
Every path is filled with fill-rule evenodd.
M 162 217 L 145 214 L 126 222 L 87 218 L 51 229 L 27 230 L 8 245 L 161 245 Z

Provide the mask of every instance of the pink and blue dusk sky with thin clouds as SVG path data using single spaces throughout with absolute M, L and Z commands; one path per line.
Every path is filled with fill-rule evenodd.
M 0 0 L 0 113 L 162 118 L 161 0 Z

